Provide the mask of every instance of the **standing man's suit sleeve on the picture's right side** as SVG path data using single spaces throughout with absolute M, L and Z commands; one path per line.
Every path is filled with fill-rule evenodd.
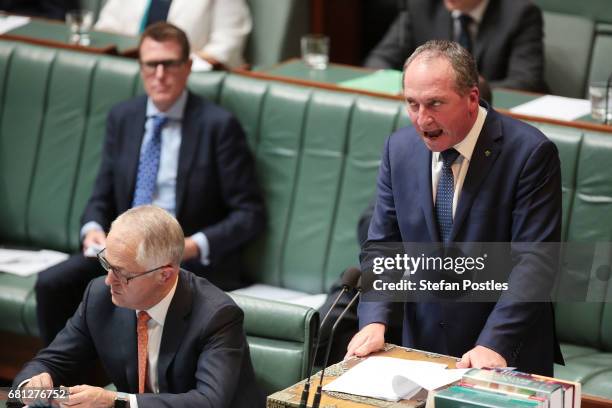
M 555 243 L 561 239 L 561 170 L 555 145 L 537 146 L 521 172 L 512 212 L 510 286 L 520 288 L 521 299 L 538 300 L 550 294 L 558 267 Z M 512 364 L 522 339 L 547 312 L 546 302 L 521 302 L 504 294 L 489 315 L 477 344 L 501 354 Z

